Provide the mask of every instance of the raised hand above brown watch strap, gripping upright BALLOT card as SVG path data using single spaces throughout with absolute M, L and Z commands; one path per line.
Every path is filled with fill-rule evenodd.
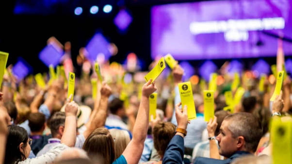
M 176 118 L 178 122 L 178 128 L 187 129 L 188 123 L 190 123 L 188 119 L 188 107 L 185 105 L 183 107 L 183 111 L 179 109 L 179 106 L 181 105 L 181 102 L 179 102 L 175 108 L 176 108 Z

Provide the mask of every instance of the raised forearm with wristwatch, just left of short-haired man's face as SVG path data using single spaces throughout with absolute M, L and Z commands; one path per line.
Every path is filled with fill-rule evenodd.
M 215 137 L 215 131 L 216 131 L 217 126 L 218 126 L 217 117 L 214 116 L 214 120 L 211 118 L 207 125 L 209 137 Z M 221 157 L 219 154 L 219 149 L 216 143 L 216 139 L 211 139 L 209 143 L 210 143 L 210 158 L 220 160 Z

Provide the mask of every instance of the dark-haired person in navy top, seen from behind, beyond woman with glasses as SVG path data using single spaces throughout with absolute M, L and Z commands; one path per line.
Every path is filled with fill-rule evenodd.
M 29 116 L 29 126 L 31 129 L 30 138 L 33 140 L 31 148 L 34 154 L 37 154 L 45 145 L 52 135 L 43 135 L 45 130 L 46 117 L 42 113 L 32 113 Z

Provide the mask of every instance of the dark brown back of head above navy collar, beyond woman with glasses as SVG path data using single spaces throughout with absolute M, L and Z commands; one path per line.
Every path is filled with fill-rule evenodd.
M 31 113 L 29 116 L 29 127 L 32 132 L 39 132 L 44 130 L 46 117 L 42 113 Z

